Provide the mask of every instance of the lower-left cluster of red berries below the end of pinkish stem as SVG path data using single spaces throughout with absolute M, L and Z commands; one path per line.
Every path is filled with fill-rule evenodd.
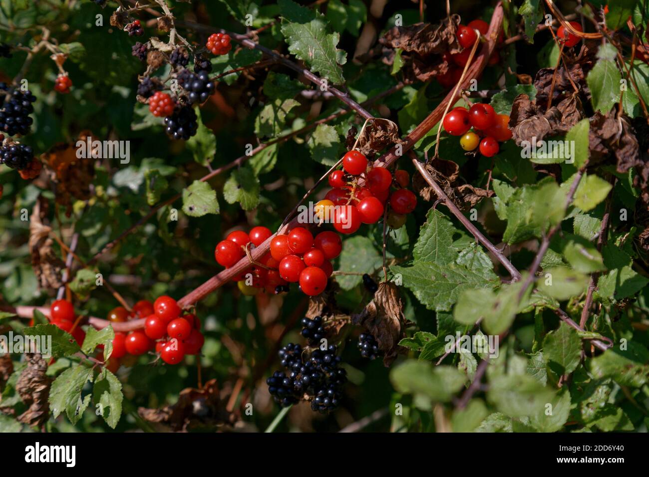
M 128 312 L 123 308 L 112 310 L 110 321 L 125 321 Z M 146 315 L 146 313 L 149 313 Z M 180 306 L 171 297 L 158 297 L 153 302 L 142 300 L 133 307 L 132 317 L 145 317 L 144 330 L 129 334 L 117 332 L 113 339 L 111 358 L 119 360 L 126 354 L 140 356 L 155 350 L 167 364 L 178 364 L 188 354 L 198 354 L 205 341 L 201 322 L 193 314 L 182 314 Z

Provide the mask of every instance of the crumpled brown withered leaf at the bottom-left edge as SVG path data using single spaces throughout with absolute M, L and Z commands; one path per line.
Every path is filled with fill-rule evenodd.
M 41 426 L 49 417 L 49 387 L 51 379 L 45 374 L 47 361 L 39 353 L 26 355 L 27 367 L 20 373 L 16 391 L 29 409 L 18 416 L 18 421 L 29 426 Z

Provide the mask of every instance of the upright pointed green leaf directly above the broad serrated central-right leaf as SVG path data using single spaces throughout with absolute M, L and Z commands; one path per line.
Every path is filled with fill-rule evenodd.
M 452 247 L 453 234 L 458 232 L 447 216 L 431 208 L 426 223 L 419 229 L 419 238 L 413 248 L 416 261 L 434 262 L 439 265 L 453 263 L 458 252 Z

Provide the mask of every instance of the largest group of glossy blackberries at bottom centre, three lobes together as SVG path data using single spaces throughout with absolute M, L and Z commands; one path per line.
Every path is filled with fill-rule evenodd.
M 276 371 L 266 380 L 269 393 L 280 406 L 290 406 L 306 397 L 313 411 L 327 413 L 339 406 L 347 373 L 332 345 L 308 354 L 300 345 L 289 343 L 279 352 L 286 372 Z

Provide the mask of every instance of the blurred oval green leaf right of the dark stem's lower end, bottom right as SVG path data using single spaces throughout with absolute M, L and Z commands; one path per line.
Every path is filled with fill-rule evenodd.
M 511 417 L 531 416 L 545 410 L 554 393 L 527 374 L 498 375 L 489 380 L 487 399 Z

